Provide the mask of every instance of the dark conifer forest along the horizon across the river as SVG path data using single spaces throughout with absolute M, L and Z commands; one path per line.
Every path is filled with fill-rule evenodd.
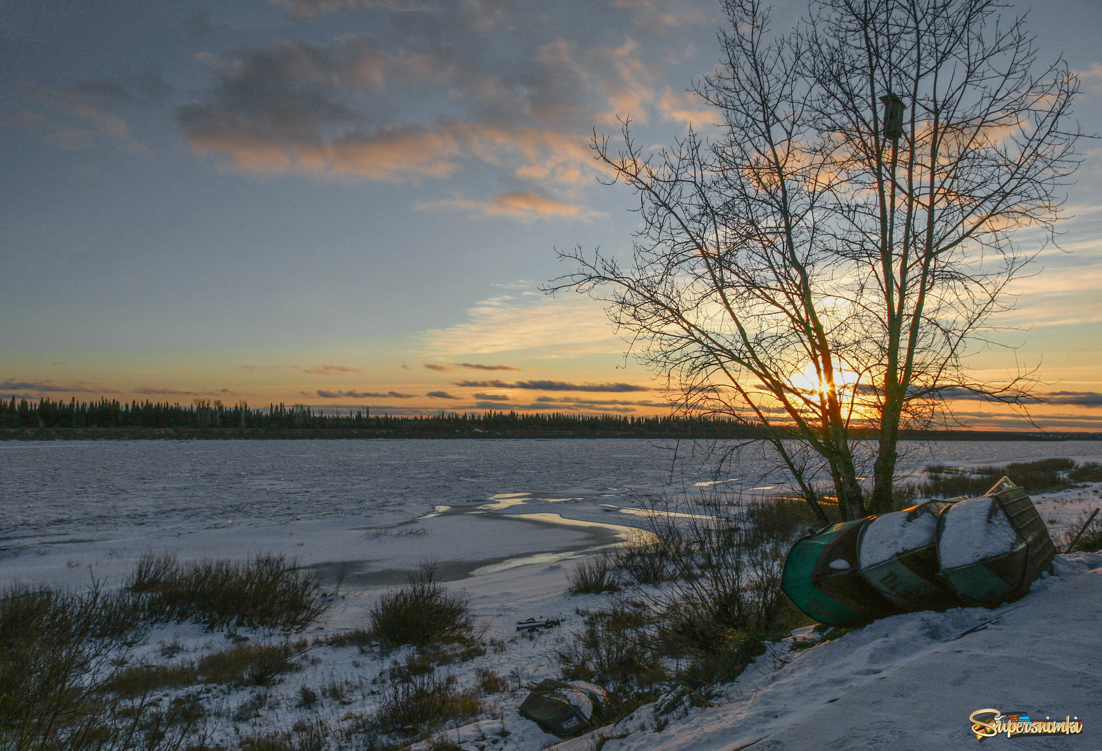
M 624 417 L 564 412 L 445 412 L 430 416 L 325 415 L 303 405 L 253 409 L 196 399 L 192 405 L 100 399 L 0 400 L 0 439 L 58 438 L 760 438 L 756 426 L 693 417 Z M 933 440 L 1098 439 L 1100 433 L 921 431 Z

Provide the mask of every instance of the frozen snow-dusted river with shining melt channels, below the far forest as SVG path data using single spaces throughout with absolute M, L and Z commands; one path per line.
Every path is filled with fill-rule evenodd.
M 1102 441 L 906 448 L 919 466 L 1102 459 Z M 434 555 L 474 566 L 607 543 L 608 527 L 627 523 L 627 515 L 607 512 L 641 493 L 745 493 L 784 481 L 757 449 L 720 471 L 705 449 L 628 439 L 7 441 L 0 443 L 0 565 L 10 578 L 47 576 L 63 558 L 67 568 L 83 569 L 145 550 L 288 549 L 318 565 L 372 559 L 383 569 L 402 550 L 400 558 Z M 436 534 L 378 532 L 445 506 L 485 508 L 511 523 L 428 519 L 419 528 Z

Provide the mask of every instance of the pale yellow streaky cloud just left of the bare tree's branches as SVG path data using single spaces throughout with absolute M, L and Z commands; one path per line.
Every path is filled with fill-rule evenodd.
M 581 294 L 552 298 L 531 291 L 483 300 L 467 310 L 465 322 L 421 336 L 436 356 L 526 352 L 527 357 L 575 357 L 625 347 L 602 303 Z

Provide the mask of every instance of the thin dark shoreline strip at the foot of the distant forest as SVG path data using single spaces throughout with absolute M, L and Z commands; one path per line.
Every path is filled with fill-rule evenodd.
M 499 430 L 403 430 L 390 429 L 345 429 L 345 428 L 0 428 L 0 441 L 65 441 L 65 440 L 367 440 L 367 439 L 625 439 L 645 440 L 752 440 L 760 438 L 753 428 L 731 426 L 730 430 L 710 430 L 707 434 L 691 430 L 538 430 L 528 426 L 503 426 Z M 872 437 L 869 437 L 872 438 Z M 1096 441 L 1102 433 L 1077 432 L 1014 432 L 995 430 L 911 430 L 903 431 L 903 440 L 909 441 Z

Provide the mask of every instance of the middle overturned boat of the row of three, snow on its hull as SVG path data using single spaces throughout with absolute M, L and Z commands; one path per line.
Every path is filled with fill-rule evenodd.
M 907 524 L 916 523 L 922 514 L 929 516 L 929 541 L 921 547 L 904 550 L 886 560 L 866 565 L 861 561 L 861 576 L 885 598 L 908 612 L 920 610 L 944 611 L 960 608 L 963 602 L 941 577 L 938 562 L 937 523 L 943 508 L 960 498 L 927 501 L 905 508 Z M 862 550 L 865 536 L 872 525 L 862 528 L 857 538 L 857 549 Z M 862 558 L 864 554 L 862 552 Z

